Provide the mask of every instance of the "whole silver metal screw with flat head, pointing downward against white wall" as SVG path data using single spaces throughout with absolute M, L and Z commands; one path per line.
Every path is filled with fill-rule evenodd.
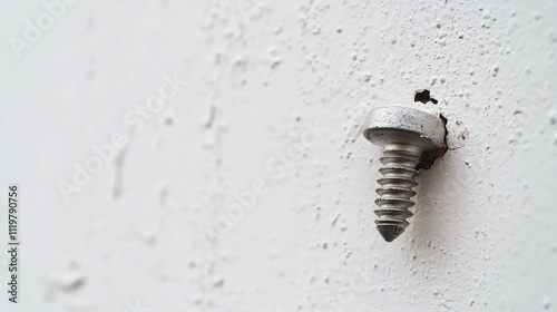
M 392 242 L 408 226 L 407 218 L 413 214 L 408 209 L 414 205 L 410 198 L 418 185 L 416 168 L 423 152 L 442 147 L 444 125 L 433 115 L 405 107 L 379 107 L 368 114 L 363 136 L 371 143 L 383 147 L 384 165 L 379 172 L 381 185 L 375 192 L 378 231 L 387 242 Z

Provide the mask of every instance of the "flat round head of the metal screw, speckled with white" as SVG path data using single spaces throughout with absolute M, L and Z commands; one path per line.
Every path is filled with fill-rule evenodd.
M 368 114 L 363 136 L 379 146 L 411 143 L 422 150 L 436 150 L 444 142 L 444 125 L 440 118 L 418 109 L 378 107 Z

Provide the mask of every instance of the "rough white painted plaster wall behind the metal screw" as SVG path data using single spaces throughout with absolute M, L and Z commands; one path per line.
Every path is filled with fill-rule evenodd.
M 81 0 L 17 59 L 43 11 L 0 4 L 0 178 L 23 207 L 1 311 L 557 311 L 556 1 Z M 187 86 L 133 131 L 174 72 Z M 391 244 L 360 134 L 384 105 L 442 114 L 450 147 Z M 300 147 L 307 123 L 326 131 Z M 115 131 L 66 203 L 57 183 Z

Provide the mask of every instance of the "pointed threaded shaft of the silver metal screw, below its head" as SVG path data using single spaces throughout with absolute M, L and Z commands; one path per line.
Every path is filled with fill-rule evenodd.
M 407 218 L 413 214 L 408 209 L 414 205 L 410 198 L 416 195 L 412 191 L 418 185 L 416 166 L 420 162 L 421 150 L 411 145 L 391 144 L 383 150 L 380 162 L 384 165 L 379 169 L 383 175 L 378 179 L 381 185 L 375 192 L 379 198 L 375 204 L 378 231 L 387 242 L 397 238 L 409 225 Z

